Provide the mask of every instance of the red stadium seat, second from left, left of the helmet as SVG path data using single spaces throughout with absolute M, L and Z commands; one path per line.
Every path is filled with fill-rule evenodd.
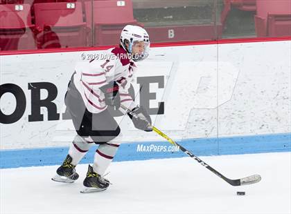
M 35 3 L 38 48 L 87 46 L 82 3 Z

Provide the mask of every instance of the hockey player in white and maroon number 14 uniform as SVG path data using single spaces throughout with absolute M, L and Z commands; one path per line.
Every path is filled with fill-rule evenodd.
M 148 57 L 150 40 L 148 33 L 139 26 L 127 25 L 121 32 L 118 48 L 110 48 L 106 59 L 93 59 L 77 64 L 69 82 L 65 104 L 73 120 L 77 135 L 69 148 L 69 154 L 57 170 L 53 180 L 74 182 L 79 175 L 75 167 L 92 144 L 99 144 L 93 166 L 89 165 L 83 182 L 85 190 L 103 191 L 109 181 L 103 177 L 112 162 L 119 144 L 111 142 L 121 132 L 108 106 L 116 110 L 121 104 L 139 118 L 131 117 L 135 128 L 151 131 L 150 115 L 142 106 L 134 105 L 128 92 L 136 72 L 134 61 Z

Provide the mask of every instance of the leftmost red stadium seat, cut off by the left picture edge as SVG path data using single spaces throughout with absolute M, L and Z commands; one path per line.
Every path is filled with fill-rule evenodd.
M 28 4 L 0 5 L 0 50 L 35 49 Z

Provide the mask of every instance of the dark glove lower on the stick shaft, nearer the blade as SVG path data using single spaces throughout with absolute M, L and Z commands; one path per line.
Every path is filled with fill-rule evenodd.
M 136 117 L 132 116 L 130 113 L 127 113 L 127 115 L 132 119 L 135 128 L 145 130 L 146 132 L 152 131 L 152 119 L 150 119 L 150 115 L 148 115 L 143 106 L 136 106 L 132 109 L 132 113 L 134 113 Z

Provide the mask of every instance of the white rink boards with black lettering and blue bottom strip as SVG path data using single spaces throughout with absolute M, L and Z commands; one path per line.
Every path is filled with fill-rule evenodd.
M 137 66 L 136 104 L 155 126 L 197 155 L 290 151 L 291 41 L 260 41 L 151 48 Z M 0 56 L 0 167 L 53 165 L 75 132 L 64 93 L 75 64 L 103 50 Z M 45 107 L 44 107 L 45 106 Z M 136 152 L 163 145 L 159 135 L 135 130 L 116 117 L 122 135 L 115 161 L 182 157 Z M 84 162 L 91 161 L 90 155 Z

